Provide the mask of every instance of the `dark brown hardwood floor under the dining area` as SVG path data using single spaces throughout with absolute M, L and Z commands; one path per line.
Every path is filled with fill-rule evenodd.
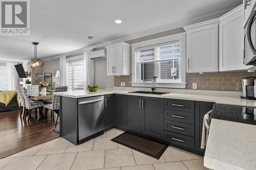
M 0 159 L 59 137 L 50 111 L 45 120 L 36 121 L 37 116 L 33 111 L 28 121 L 19 111 L 0 113 Z

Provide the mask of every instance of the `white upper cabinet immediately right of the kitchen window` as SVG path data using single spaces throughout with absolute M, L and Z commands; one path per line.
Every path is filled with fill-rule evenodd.
M 218 23 L 211 19 L 184 27 L 187 72 L 218 71 Z

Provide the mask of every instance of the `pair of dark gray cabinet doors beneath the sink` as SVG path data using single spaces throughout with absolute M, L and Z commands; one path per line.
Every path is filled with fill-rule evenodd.
M 163 99 L 125 95 L 125 129 L 163 140 Z

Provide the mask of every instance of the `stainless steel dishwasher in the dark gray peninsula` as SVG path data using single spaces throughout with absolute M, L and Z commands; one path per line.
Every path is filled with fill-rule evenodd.
M 78 100 L 79 140 L 104 130 L 104 96 Z

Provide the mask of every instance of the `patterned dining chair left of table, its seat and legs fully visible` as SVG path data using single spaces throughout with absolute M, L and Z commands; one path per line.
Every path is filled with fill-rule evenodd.
M 44 106 L 44 103 L 42 103 L 42 102 L 39 102 L 39 101 L 36 101 L 36 102 L 32 102 L 31 101 L 31 99 L 29 98 L 29 95 L 28 95 L 28 92 L 27 92 L 27 89 L 25 89 L 25 88 L 20 88 L 20 90 L 21 90 L 21 92 L 22 92 L 22 94 L 23 94 L 23 97 L 24 97 L 24 99 L 25 99 L 25 105 L 26 105 L 26 111 L 25 111 L 25 116 L 23 116 L 23 117 L 27 117 L 27 111 L 28 111 L 28 120 L 31 118 L 31 111 L 33 110 L 33 109 L 38 109 L 39 108 L 39 110 L 41 109 L 41 108 L 43 108 L 43 106 Z M 41 113 L 40 113 L 41 114 Z

